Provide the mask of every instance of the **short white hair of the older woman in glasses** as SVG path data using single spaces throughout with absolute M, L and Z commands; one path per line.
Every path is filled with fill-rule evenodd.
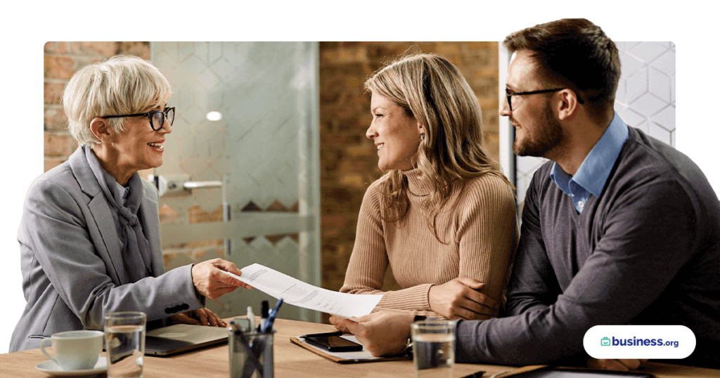
M 167 104 L 172 91 L 168 79 L 149 62 L 115 55 L 80 68 L 63 91 L 68 131 L 79 145 L 93 147 L 100 140 L 90 130 L 96 117 L 136 114 Z M 126 118 L 108 118 L 115 132 L 125 131 Z

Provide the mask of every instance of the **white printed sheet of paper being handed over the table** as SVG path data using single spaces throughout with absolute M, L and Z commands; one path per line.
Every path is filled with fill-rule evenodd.
M 315 287 L 260 264 L 248 265 L 240 271 L 242 276 L 222 272 L 290 305 L 351 320 L 368 315 L 382 299 L 382 294 L 346 294 Z

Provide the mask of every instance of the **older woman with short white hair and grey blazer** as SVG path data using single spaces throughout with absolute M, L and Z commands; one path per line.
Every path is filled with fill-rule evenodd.
M 246 286 L 221 271 L 242 272 L 217 258 L 165 273 L 158 192 L 138 175 L 163 163 L 170 96 L 161 71 L 130 56 L 81 68 L 67 84 L 68 129 L 81 146 L 27 190 L 17 233 L 26 305 L 10 352 L 53 333 L 102 330 L 116 311 L 225 326 L 205 297 Z

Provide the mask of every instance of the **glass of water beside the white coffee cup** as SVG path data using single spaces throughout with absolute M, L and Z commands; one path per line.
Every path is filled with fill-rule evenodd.
M 145 312 L 105 315 L 107 378 L 142 378 L 145 355 Z

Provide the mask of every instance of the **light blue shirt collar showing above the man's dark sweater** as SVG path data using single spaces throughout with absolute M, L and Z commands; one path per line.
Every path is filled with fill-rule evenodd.
M 603 136 L 577 168 L 575 176 L 565 173 L 557 163 L 552 164 L 550 178 L 564 194 L 572 197 L 577 212 L 582 212 L 590 194 L 598 198 L 603 194 L 605 182 L 629 135 L 628 126 L 616 112 Z

